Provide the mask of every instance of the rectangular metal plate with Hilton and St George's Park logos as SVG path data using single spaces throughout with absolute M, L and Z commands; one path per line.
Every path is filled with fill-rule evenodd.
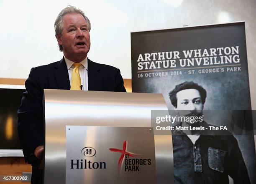
M 155 184 L 155 144 L 150 128 L 66 126 L 66 138 L 66 184 Z M 119 169 L 121 153 L 110 148 L 123 150 L 124 141 L 126 151 L 134 156 L 123 157 Z M 142 163 L 132 163 L 142 159 Z

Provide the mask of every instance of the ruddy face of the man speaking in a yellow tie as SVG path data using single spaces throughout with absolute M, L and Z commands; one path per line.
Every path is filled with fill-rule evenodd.
M 63 46 L 64 55 L 74 62 L 83 60 L 91 45 L 87 21 L 80 14 L 67 14 L 62 24 L 62 34 L 57 35 L 57 40 Z

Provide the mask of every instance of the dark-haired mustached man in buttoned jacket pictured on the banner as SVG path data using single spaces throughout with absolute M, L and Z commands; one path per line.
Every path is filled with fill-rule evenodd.
M 169 97 L 179 113 L 183 111 L 187 117 L 202 116 L 206 91 L 197 83 L 181 83 L 175 86 Z M 181 122 L 179 126 L 184 124 Z M 207 126 L 205 121 L 202 124 Z M 175 184 L 228 184 L 228 176 L 236 184 L 250 183 L 236 138 L 228 132 L 217 136 L 212 133 L 173 131 Z

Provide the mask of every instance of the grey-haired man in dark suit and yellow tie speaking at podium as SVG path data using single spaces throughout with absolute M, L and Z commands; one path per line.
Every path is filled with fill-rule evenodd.
M 44 151 L 44 89 L 126 92 L 120 71 L 87 58 L 90 50 L 90 20 L 82 10 L 68 6 L 54 23 L 59 50 L 64 57 L 55 63 L 32 68 L 18 109 L 18 134 L 25 159 L 32 164 L 31 183 L 42 182 L 38 169 Z

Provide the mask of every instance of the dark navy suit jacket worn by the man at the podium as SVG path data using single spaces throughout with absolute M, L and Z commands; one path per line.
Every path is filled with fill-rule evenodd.
M 44 144 L 44 89 L 70 89 L 69 74 L 64 57 L 55 63 L 32 68 L 26 80 L 18 109 L 18 134 L 24 156 L 33 154 L 37 146 Z M 88 59 L 88 90 L 125 92 L 120 70 Z

